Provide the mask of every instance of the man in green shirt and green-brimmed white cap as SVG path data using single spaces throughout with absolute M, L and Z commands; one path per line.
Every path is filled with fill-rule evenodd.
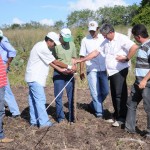
M 65 64 L 68 64 L 68 69 L 72 67 L 72 59 L 76 58 L 76 48 L 75 44 L 72 42 L 72 35 L 71 31 L 68 28 L 63 28 L 60 31 L 60 42 L 61 45 L 57 45 L 55 47 L 55 51 L 53 51 L 53 55 L 55 58 Z M 74 66 L 74 65 L 73 65 Z M 75 67 L 75 66 L 74 66 Z M 68 97 L 68 107 L 69 107 L 69 122 L 74 122 L 74 115 L 73 115 L 73 91 L 74 91 L 74 78 L 70 81 L 73 77 L 73 72 L 69 74 L 62 74 L 60 71 L 54 70 L 53 75 L 53 82 L 54 82 L 54 94 L 55 97 L 60 93 L 60 91 L 64 88 L 66 84 L 66 92 Z M 70 81 L 70 82 L 69 82 Z M 56 115 L 58 123 L 62 122 L 65 119 L 65 115 L 63 112 L 63 104 L 62 104 L 62 96 L 61 93 L 56 98 Z

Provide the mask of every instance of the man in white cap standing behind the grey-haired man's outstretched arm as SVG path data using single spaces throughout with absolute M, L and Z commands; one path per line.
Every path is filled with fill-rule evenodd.
M 81 41 L 80 57 L 83 58 L 95 49 L 104 41 L 101 34 L 98 34 L 98 23 L 96 21 L 89 22 L 89 35 L 84 37 Z M 105 57 L 98 55 L 94 59 L 86 61 L 86 72 L 88 84 L 92 96 L 90 108 L 96 117 L 103 117 L 103 101 L 108 95 L 108 77 L 106 73 Z M 84 62 L 80 63 L 80 79 L 83 80 Z

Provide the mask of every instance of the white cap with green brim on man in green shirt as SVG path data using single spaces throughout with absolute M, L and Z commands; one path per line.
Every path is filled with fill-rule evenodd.
M 60 34 L 62 35 L 63 40 L 64 40 L 65 42 L 70 42 L 70 41 L 72 40 L 72 35 L 71 35 L 70 29 L 68 29 L 68 28 L 63 28 L 63 29 L 60 31 Z

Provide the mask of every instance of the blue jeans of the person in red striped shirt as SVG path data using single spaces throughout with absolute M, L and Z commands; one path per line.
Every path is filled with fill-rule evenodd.
M 5 94 L 5 87 L 0 88 L 0 139 L 4 138 L 4 131 L 2 127 L 3 116 L 5 114 L 4 111 L 4 94 Z

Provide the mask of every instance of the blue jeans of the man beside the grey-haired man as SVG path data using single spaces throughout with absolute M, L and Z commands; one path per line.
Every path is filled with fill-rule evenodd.
M 88 84 L 92 96 L 90 105 L 95 115 L 103 116 L 103 101 L 109 93 L 108 77 L 106 71 L 87 72 Z

